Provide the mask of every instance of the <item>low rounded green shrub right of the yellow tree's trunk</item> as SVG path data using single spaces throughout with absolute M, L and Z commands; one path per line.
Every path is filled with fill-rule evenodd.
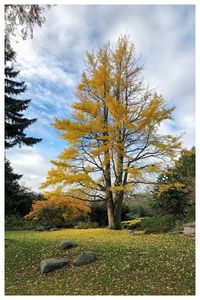
M 167 232 L 175 226 L 173 215 L 145 217 L 141 221 L 141 228 L 145 233 Z

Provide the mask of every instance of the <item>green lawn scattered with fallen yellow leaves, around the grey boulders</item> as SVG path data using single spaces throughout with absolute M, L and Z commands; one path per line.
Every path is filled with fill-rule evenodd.
M 78 247 L 60 250 L 64 240 Z M 95 251 L 95 263 L 41 275 L 42 259 Z M 194 295 L 195 243 L 184 236 L 126 230 L 7 231 L 6 295 Z

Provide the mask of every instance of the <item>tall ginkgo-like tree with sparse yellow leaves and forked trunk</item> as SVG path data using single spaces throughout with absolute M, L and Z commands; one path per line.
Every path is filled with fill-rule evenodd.
M 173 161 L 178 137 L 159 133 L 174 108 L 141 79 L 134 46 L 121 36 L 88 53 L 71 119 L 56 119 L 68 142 L 42 188 L 58 187 L 83 201 L 105 201 L 109 228 L 121 228 L 124 194 Z

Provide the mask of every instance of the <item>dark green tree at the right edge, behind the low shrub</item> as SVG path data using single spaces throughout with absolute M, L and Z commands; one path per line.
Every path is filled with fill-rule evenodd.
M 180 185 L 177 186 L 176 183 Z M 161 192 L 162 190 L 162 192 Z M 158 177 L 152 208 L 161 214 L 185 217 L 195 202 L 195 148 L 183 150 L 174 168 Z

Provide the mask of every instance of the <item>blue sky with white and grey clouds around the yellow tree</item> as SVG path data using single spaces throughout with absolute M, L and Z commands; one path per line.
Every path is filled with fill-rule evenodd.
M 33 39 L 13 42 L 16 68 L 27 83 L 32 99 L 25 115 L 37 118 L 27 131 L 42 137 L 33 148 L 13 148 L 7 158 L 23 174 L 26 186 L 38 191 L 66 143 L 51 126 L 55 117 L 70 117 L 76 100 L 87 51 L 127 34 L 144 63 L 144 77 L 176 106 L 174 122 L 162 126 L 165 133 L 183 134 L 183 146 L 194 145 L 195 111 L 195 8 L 192 5 L 57 5 L 46 10 L 46 23 L 34 28 Z

